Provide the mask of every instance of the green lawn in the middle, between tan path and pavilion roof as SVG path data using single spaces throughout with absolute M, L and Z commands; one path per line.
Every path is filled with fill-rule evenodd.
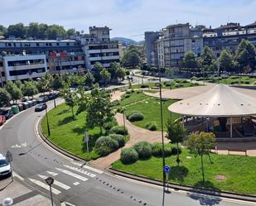
M 142 102 L 138 102 L 142 101 Z M 136 103 L 137 102 L 137 103 Z M 170 118 L 170 113 L 168 111 L 168 107 L 171 103 L 175 103 L 176 100 L 167 100 L 162 101 L 162 108 L 163 108 L 163 123 L 164 123 L 164 130 L 167 130 L 166 124 L 168 119 Z M 133 103 L 133 104 L 131 104 Z M 144 119 L 142 121 L 133 122 L 134 125 L 142 128 L 146 128 L 145 124 L 147 122 L 156 122 L 157 123 L 157 130 L 161 130 L 161 115 L 160 115 L 160 101 L 158 98 L 148 97 L 143 93 L 131 93 L 129 98 L 124 98 L 121 101 L 121 104 L 118 107 L 126 108 L 126 113 L 132 113 L 134 111 L 141 112 L 144 115 Z M 172 114 L 171 118 L 176 119 L 180 117 L 178 114 Z

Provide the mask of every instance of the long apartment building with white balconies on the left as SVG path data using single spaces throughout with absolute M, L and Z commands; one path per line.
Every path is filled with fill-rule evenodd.
M 109 67 L 119 62 L 121 44 L 110 41 L 109 27 L 90 26 L 89 34 L 69 40 L 0 40 L 0 85 L 7 80 L 36 79 L 51 74 L 93 69 L 96 62 Z

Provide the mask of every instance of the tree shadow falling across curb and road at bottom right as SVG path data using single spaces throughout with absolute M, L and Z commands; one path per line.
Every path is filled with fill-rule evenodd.
M 216 188 L 212 182 L 203 182 L 202 180 L 200 180 L 194 186 L 198 187 L 198 189 L 193 189 L 191 193 L 187 193 L 188 197 L 190 197 L 191 199 L 198 200 L 200 205 L 214 206 L 220 204 L 221 199 L 219 197 L 209 197 L 200 194 L 203 191 L 203 189 L 214 189 L 215 191 L 211 191 L 210 194 L 218 196 L 218 194 L 220 194 L 220 189 Z

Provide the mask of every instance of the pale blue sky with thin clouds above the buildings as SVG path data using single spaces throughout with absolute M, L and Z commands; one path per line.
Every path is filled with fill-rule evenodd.
M 256 21 L 256 0 L 0 0 L 0 24 L 59 24 L 89 32 L 89 26 L 109 26 L 111 37 L 136 41 L 145 31 L 175 24 L 217 27 L 227 22 Z

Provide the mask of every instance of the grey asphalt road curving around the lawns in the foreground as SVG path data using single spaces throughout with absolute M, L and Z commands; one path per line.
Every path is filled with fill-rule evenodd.
M 48 108 L 53 107 L 53 103 L 47 104 Z M 49 194 L 44 179 L 52 176 L 56 180 L 54 197 L 74 205 L 162 205 L 161 187 L 110 175 L 87 165 L 80 170 L 81 162 L 61 156 L 42 143 L 36 135 L 36 122 L 44 113 L 34 113 L 30 108 L 13 117 L 0 130 L 0 152 L 12 152 L 13 170 L 24 181 Z M 182 191 L 165 194 L 165 203 L 175 206 L 256 205 Z

